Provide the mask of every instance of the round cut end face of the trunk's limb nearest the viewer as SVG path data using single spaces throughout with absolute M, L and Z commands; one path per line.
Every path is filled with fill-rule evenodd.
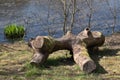
M 86 60 L 83 62 L 82 70 L 85 73 L 91 73 L 96 69 L 96 65 L 92 60 Z

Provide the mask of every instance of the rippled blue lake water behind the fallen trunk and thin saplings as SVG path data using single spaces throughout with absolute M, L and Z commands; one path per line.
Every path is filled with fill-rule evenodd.
M 114 23 L 111 11 L 114 11 L 115 7 L 117 17 L 115 32 L 120 31 L 120 0 L 108 0 L 109 5 L 107 0 L 92 1 L 91 29 L 101 31 L 104 35 L 111 34 Z M 90 13 L 85 0 L 77 0 L 77 9 L 74 34 L 87 26 Z M 68 28 L 70 19 L 68 16 Z M 24 39 L 28 40 L 37 35 L 51 34 L 53 37 L 61 37 L 63 22 L 63 4 L 60 0 L 0 0 L 0 42 L 7 41 L 4 37 L 4 28 L 8 24 L 24 25 L 27 31 Z

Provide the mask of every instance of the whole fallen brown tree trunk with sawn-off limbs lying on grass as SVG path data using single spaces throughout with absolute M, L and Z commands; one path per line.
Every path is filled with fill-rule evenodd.
M 49 36 L 37 36 L 29 41 L 34 55 L 31 64 L 42 64 L 47 60 L 49 54 L 57 50 L 70 50 L 74 61 L 86 73 L 96 69 L 96 64 L 89 57 L 88 49 L 99 47 L 105 41 L 105 37 L 98 31 L 91 32 L 88 28 L 77 36 L 67 32 L 62 38 L 54 39 Z

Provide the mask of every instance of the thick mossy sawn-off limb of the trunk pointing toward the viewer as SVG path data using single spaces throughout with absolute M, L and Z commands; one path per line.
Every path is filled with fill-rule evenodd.
M 85 73 L 91 73 L 96 69 L 96 64 L 89 57 L 87 48 L 81 45 L 73 46 L 74 61 L 80 66 L 81 70 Z

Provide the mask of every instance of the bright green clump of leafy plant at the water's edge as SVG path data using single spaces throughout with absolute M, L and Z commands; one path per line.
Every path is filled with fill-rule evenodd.
M 10 24 L 5 27 L 4 34 L 7 39 L 22 39 L 25 34 L 24 26 Z

